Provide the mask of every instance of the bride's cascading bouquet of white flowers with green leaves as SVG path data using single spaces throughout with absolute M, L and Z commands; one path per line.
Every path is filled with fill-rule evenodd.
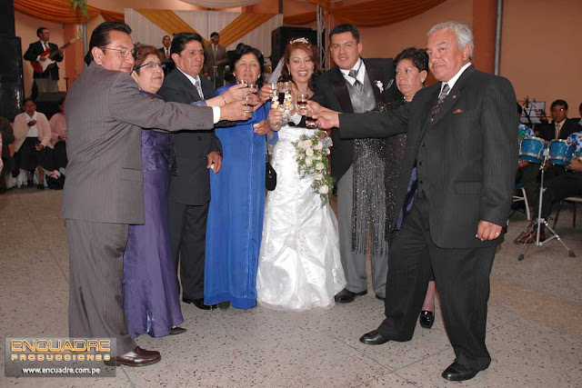
M 316 131 L 310 136 L 302 134 L 293 145 L 296 149 L 299 176 L 302 178 L 307 175 L 313 177 L 311 187 L 314 192 L 321 196 L 322 204 L 326 204 L 334 186 L 334 178 L 327 172 L 329 169 L 329 161 L 327 160 L 330 146 L 328 144 L 329 138 L 325 138 L 327 142 L 322 140 L 320 138 L 322 134 L 324 134 L 323 131 Z

